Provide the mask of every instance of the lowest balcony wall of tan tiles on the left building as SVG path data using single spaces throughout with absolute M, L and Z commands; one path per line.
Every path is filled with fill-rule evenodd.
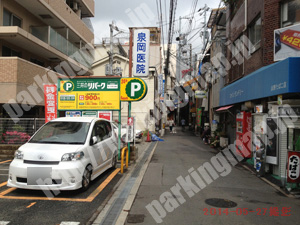
M 0 103 L 14 99 L 20 104 L 44 105 L 43 84 L 37 81 L 56 84 L 56 77 L 62 76 L 18 57 L 0 57 L 0 68 Z

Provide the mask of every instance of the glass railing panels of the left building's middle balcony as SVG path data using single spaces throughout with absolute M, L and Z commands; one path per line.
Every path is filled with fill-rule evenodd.
M 50 26 L 32 27 L 31 34 L 41 41 L 49 44 L 58 51 L 64 53 L 70 58 L 74 59 L 81 65 L 91 68 L 93 57 L 84 51 L 80 51 L 78 47 L 68 41 L 65 37 L 59 34 Z

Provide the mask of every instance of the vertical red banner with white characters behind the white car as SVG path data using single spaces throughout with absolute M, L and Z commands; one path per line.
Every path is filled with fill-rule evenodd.
M 45 123 L 57 118 L 57 88 L 56 85 L 44 85 Z

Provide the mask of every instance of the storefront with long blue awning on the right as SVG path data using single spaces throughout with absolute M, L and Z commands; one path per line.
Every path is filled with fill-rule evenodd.
M 288 151 L 300 151 L 300 58 L 262 67 L 220 91 L 220 106 L 251 113 L 251 158 L 285 184 Z M 238 113 L 237 113 L 238 114 Z M 237 120 L 236 120 L 237 121 Z M 231 141 L 231 143 L 233 143 Z

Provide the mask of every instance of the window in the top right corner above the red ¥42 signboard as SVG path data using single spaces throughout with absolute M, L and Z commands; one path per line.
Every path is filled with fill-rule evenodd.
M 281 27 L 300 22 L 300 2 L 288 1 L 281 5 Z

